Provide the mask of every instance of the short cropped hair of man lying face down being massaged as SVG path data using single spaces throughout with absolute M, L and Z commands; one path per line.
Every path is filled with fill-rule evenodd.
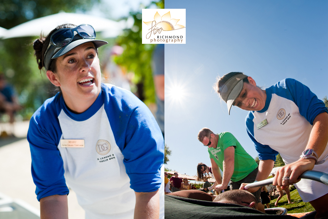
M 213 202 L 219 202 L 221 200 L 225 200 L 228 203 L 240 205 L 240 203 L 247 202 L 255 202 L 254 208 L 257 209 L 257 200 L 255 196 L 245 190 L 234 189 L 222 192 L 221 194 L 217 195 Z

